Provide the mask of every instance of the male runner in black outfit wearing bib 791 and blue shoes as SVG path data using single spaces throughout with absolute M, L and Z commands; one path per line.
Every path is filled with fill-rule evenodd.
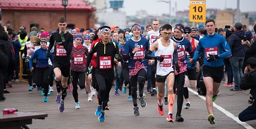
M 109 92 L 112 88 L 114 80 L 114 63 L 120 61 L 120 53 L 118 46 L 114 42 L 110 42 L 110 27 L 104 26 L 100 30 L 101 41 L 95 43 L 87 57 L 86 73 L 89 74 L 89 65 L 93 55 L 96 55 L 95 77 L 99 86 L 99 105 L 95 115 L 99 116 L 99 121 L 105 120 L 105 107 L 109 100 Z M 96 52 L 96 54 L 95 54 Z M 114 61 L 115 59 L 115 61 Z

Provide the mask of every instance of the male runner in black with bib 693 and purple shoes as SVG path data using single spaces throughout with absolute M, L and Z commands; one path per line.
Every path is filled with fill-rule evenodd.
M 58 19 L 59 32 L 52 33 L 50 37 L 50 45 L 47 55 L 49 57 L 50 50 L 54 46 L 53 71 L 56 77 L 57 97 L 56 103 L 59 103 L 59 111 L 64 111 L 64 100 L 66 97 L 66 87 L 69 76 L 70 61 L 69 56 L 72 51 L 73 36 L 66 31 L 68 25 L 66 18 Z M 62 94 L 60 94 L 62 90 Z

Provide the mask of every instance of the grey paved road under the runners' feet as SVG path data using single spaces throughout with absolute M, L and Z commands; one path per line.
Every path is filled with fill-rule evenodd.
M 222 83 L 223 85 L 224 83 Z M 85 128 L 106 128 L 106 129 L 128 129 L 128 128 L 174 128 L 174 129 L 253 129 L 256 128 L 256 121 L 240 122 L 238 114 L 249 106 L 246 95 L 249 91 L 229 91 L 229 87 L 220 87 L 219 96 L 214 104 L 215 125 L 210 125 L 207 121 L 208 113 L 205 105 L 205 97 L 197 95 L 195 89 L 189 89 L 190 109 L 182 109 L 184 122 L 167 122 L 165 120 L 168 107 L 164 105 L 165 115 L 160 116 L 157 112 L 157 98 L 147 94 L 145 100 L 147 106 L 139 106 L 140 116 L 133 116 L 133 104 L 128 101 L 128 94 L 114 95 L 115 89 L 110 91 L 110 110 L 105 113 L 105 121 L 99 122 L 95 116 L 97 106 L 96 97 L 88 102 L 88 95 L 83 91 L 78 91 L 81 109 L 75 109 L 75 102 L 72 92 L 68 92 L 65 98 L 65 111 L 59 112 L 59 104 L 55 103 L 56 88 L 54 93 L 48 97 L 49 102 L 42 102 L 43 97 L 40 91 L 29 91 L 27 83 L 14 83 L 12 88 L 8 88 L 10 94 L 5 94 L 6 101 L 0 102 L 0 109 L 16 108 L 22 112 L 38 112 L 48 114 L 44 120 L 33 120 L 31 129 L 85 129 Z M 146 91 L 146 90 L 145 90 Z M 235 94 L 236 93 L 236 94 Z M 228 95 L 227 95 L 228 94 Z M 234 95 L 231 95 L 234 94 Z M 176 99 L 177 100 L 177 96 Z M 184 101 L 185 104 L 185 101 Z M 177 103 L 174 105 L 174 114 L 177 111 Z M 175 119 L 175 118 L 174 118 Z

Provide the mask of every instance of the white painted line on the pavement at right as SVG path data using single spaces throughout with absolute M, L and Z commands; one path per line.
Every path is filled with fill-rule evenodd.
M 188 87 L 188 91 L 192 92 L 193 94 L 197 95 L 198 97 L 202 98 L 203 100 L 205 100 L 206 98 L 202 95 L 198 95 L 198 93 L 194 90 L 192 90 L 191 88 Z M 238 117 L 236 117 L 235 115 L 233 115 L 232 113 L 226 111 L 224 108 L 222 108 L 221 106 L 215 104 L 215 102 L 213 102 L 213 106 L 215 108 L 217 108 L 219 111 L 223 112 L 226 116 L 232 118 L 233 120 L 235 120 L 236 122 L 238 122 L 240 125 L 244 126 L 246 129 L 254 129 L 252 126 L 248 125 L 245 122 L 241 122 Z

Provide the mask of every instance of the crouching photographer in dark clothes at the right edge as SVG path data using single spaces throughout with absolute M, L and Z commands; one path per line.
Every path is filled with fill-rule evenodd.
M 249 57 L 247 60 L 247 67 L 245 67 L 245 71 L 243 77 L 240 82 L 240 88 L 242 90 L 250 89 L 250 93 L 253 96 L 253 99 L 256 99 L 256 57 Z M 240 121 L 251 121 L 256 119 L 256 102 L 253 101 L 253 104 L 243 110 L 238 118 Z

